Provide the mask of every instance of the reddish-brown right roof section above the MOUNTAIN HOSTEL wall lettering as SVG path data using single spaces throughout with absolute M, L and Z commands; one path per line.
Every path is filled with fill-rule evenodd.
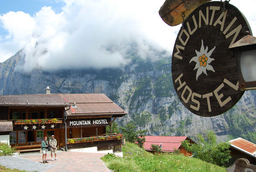
M 59 94 L 71 104 L 66 107 L 67 115 L 126 115 L 122 108 L 116 105 L 104 94 Z

